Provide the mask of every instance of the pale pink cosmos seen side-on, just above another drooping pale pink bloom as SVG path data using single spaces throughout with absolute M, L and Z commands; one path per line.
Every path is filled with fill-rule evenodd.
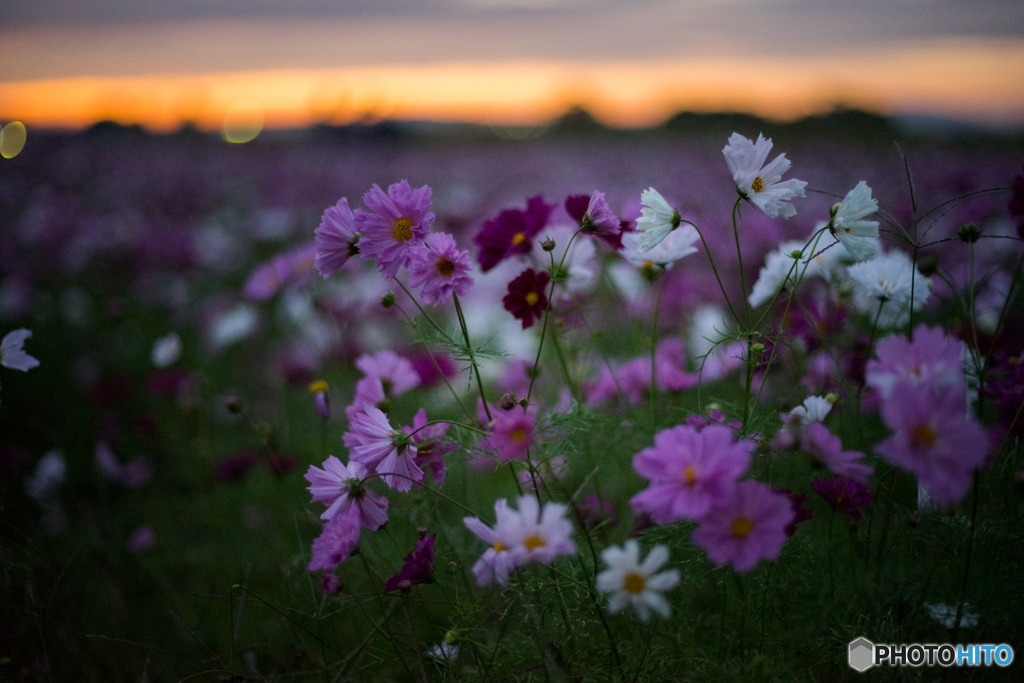
M 404 431 L 392 429 L 380 409 L 368 405 L 366 412 L 351 419 L 349 429 L 342 439 L 350 462 L 373 468 L 384 483 L 397 490 L 410 490 L 414 482 L 423 483 L 425 477 L 416 463 L 412 439 Z

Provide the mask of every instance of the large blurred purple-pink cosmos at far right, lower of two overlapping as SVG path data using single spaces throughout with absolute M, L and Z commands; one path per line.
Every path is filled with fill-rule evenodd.
M 882 407 L 882 419 L 896 433 L 874 450 L 916 475 L 932 499 L 955 505 L 967 495 L 971 472 L 985 462 L 985 430 L 964 412 L 964 396 L 937 394 L 900 380 Z

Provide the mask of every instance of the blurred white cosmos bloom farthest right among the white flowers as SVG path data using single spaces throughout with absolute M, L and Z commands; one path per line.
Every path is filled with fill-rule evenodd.
M 932 281 L 921 274 L 910 257 L 900 251 L 855 263 L 847 272 L 855 283 L 853 303 L 868 315 L 878 315 L 882 329 L 906 322 L 911 289 L 914 310 L 920 310 L 931 294 Z

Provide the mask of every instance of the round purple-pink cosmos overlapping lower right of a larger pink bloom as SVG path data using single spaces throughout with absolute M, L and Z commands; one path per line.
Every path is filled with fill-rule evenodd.
M 731 498 L 700 518 L 692 539 L 719 566 L 749 571 L 762 559 L 778 557 L 794 517 L 786 496 L 758 481 L 742 481 Z

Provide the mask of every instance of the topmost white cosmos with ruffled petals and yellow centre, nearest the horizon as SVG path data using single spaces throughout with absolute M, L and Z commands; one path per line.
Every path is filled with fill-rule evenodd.
M 729 143 L 722 150 L 725 161 L 732 172 L 732 179 L 743 199 L 775 218 L 790 218 L 797 210 L 790 204 L 795 197 L 804 197 L 804 180 L 782 180 L 782 174 L 790 170 L 790 160 L 779 155 L 770 164 L 771 139 L 758 134 L 758 141 L 752 142 L 739 133 L 733 133 Z

